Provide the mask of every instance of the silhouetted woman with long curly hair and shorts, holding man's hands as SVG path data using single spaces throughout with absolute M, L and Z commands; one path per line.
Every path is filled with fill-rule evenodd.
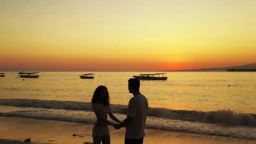
M 112 114 L 109 108 L 108 89 L 103 85 L 95 89 L 92 96 L 92 110 L 97 118 L 97 122 L 92 130 L 93 144 L 101 144 L 101 142 L 102 144 L 110 144 L 108 125 L 114 126 L 114 124 L 107 120 L 108 115 L 118 123 L 121 123 L 121 121 Z

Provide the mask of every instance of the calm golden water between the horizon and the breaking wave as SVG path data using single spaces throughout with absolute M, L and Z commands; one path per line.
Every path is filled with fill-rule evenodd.
M 105 85 L 112 104 L 127 105 L 128 79 L 154 72 L 93 72 L 95 79 L 80 79 L 85 72 L 40 72 L 38 79 L 0 78 L 0 98 L 89 102 L 98 85 Z M 168 72 L 167 81 L 141 80 L 141 93 L 152 108 L 216 111 L 230 109 L 256 113 L 255 72 Z M 230 87 L 228 87 L 230 85 Z

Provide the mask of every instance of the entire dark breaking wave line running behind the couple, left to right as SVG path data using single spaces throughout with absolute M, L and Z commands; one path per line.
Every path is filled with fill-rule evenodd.
M 79 111 L 92 111 L 90 102 L 77 101 L 47 101 L 37 99 L 0 99 L 0 105 L 16 107 L 33 107 L 46 109 L 66 109 Z M 114 113 L 126 114 L 127 105 L 111 105 Z M 256 115 L 248 113 L 239 113 L 232 110 L 219 111 L 188 111 L 172 110 L 166 108 L 149 108 L 148 116 L 154 116 L 165 119 L 202 121 L 207 123 L 227 124 L 232 126 L 250 126 L 256 127 Z

